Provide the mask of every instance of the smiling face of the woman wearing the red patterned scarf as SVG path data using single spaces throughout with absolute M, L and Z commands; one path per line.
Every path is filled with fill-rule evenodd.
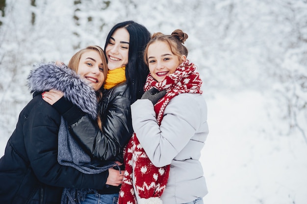
M 152 77 L 158 82 L 173 74 L 177 67 L 185 60 L 185 55 L 179 56 L 172 53 L 165 42 L 156 41 L 148 47 L 148 67 Z

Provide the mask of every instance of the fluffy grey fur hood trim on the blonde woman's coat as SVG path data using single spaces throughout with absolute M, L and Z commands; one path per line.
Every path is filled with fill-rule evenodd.
M 98 102 L 95 90 L 87 85 L 73 70 L 55 63 L 34 64 L 34 69 L 27 77 L 27 85 L 33 92 L 44 92 L 56 89 L 64 97 L 77 105 L 83 112 L 97 117 Z

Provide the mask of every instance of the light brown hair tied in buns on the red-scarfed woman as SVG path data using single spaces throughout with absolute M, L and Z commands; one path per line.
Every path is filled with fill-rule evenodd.
M 180 29 L 174 30 L 171 35 L 164 35 L 161 32 L 153 33 L 153 36 L 144 51 L 144 61 L 146 65 L 148 66 L 148 48 L 156 41 L 165 42 L 172 51 L 172 53 L 178 56 L 179 59 L 182 55 L 188 56 L 188 50 L 183 45 L 187 38 L 188 35 Z

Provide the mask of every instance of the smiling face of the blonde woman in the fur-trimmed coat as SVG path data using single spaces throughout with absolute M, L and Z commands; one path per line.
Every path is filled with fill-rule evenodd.
M 77 74 L 85 80 L 95 91 L 98 91 L 104 82 L 102 58 L 98 51 L 84 52 L 79 61 Z

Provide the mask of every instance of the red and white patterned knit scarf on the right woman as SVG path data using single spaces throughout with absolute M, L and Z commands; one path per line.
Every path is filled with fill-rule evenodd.
M 159 91 L 166 90 L 165 96 L 154 105 L 158 125 L 161 124 L 163 113 L 172 98 L 181 93 L 199 93 L 202 80 L 195 73 L 195 66 L 189 60 L 184 61 L 176 71 L 157 82 L 151 75 L 147 77 L 144 91 L 152 87 Z M 170 166 L 155 167 L 148 158 L 134 133 L 129 140 L 124 162 L 126 171 L 119 194 L 119 204 L 137 204 L 135 192 L 141 198 L 138 204 L 162 204 L 162 195 L 169 176 Z

